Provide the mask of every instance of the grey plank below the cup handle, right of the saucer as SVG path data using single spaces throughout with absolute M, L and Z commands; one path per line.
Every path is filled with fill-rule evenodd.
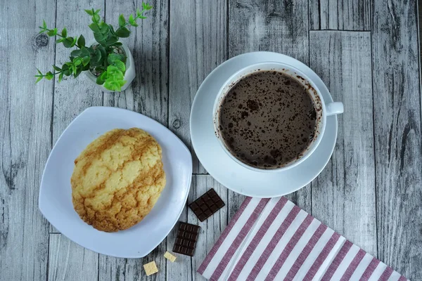
M 376 256 L 371 34 L 310 32 L 309 40 L 310 67 L 345 106 L 333 157 L 312 183 L 312 214 Z

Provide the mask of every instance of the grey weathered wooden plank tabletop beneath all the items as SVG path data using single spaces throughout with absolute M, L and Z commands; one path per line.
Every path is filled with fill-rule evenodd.
M 199 263 L 243 196 L 219 185 L 193 156 L 188 201 L 215 188 L 226 207 L 198 222 L 196 256 L 162 257 L 174 230 L 143 259 L 96 254 L 61 235 L 38 209 L 39 183 L 52 146 L 93 105 L 122 107 L 168 126 L 186 145 L 198 86 L 217 65 L 250 51 L 285 53 L 309 65 L 345 105 L 331 161 L 288 195 L 300 207 L 411 280 L 422 278 L 421 83 L 416 0 L 158 1 L 132 29 L 132 87 L 102 93 L 84 76 L 34 84 L 69 55 L 38 34 L 63 26 L 87 34 L 84 8 L 107 22 L 139 1 L 35 0 L 0 3 L 0 280 L 203 280 Z M 158 222 L 160 223 L 160 222 Z M 142 265 L 160 269 L 146 277 Z

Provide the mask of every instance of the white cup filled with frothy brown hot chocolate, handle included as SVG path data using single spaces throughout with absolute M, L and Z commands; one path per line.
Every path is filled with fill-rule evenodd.
M 300 70 L 276 62 L 236 72 L 219 90 L 213 109 L 215 135 L 235 162 L 256 171 L 297 166 L 321 142 L 326 117 L 343 103 L 324 103 Z

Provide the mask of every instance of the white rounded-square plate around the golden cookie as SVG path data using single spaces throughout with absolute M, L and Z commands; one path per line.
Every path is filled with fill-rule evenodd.
M 111 129 L 138 127 L 162 147 L 167 184 L 158 202 L 143 221 L 117 233 L 105 233 L 84 223 L 72 204 L 75 158 L 84 148 Z M 47 160 L 39 191 L 39 209 L 46 219 L 77 244 L 109 256 L 146 256 L 170 233 L 184 209 L 191 187 L 192 157 L 186 145 L 169 129 L 139 113 L 115 107 L 89 107 L 62 133 Z

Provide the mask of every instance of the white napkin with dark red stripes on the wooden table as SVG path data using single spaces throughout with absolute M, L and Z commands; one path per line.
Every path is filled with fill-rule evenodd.
M 247 197 L 198 273 L 209 280 L 407 280 L 285 197 Z

